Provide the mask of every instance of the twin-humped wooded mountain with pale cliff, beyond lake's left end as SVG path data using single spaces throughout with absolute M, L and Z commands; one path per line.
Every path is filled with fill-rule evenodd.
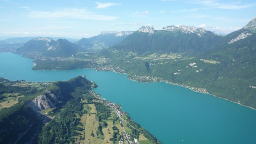
M 24 46 L 16 50 L 17 53 L 37 52 L 42 56 L 71 56 L 76 54 L 79 46 L 65 39 L 52 40 L 48 37 L 40 37 L 29 40 Z

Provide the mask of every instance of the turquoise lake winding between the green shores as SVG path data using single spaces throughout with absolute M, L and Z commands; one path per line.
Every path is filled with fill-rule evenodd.
M 0 53 L 0 77 L 33 82 L 85 75 L 163 144 L 256 144 L 256 110 L 166 83 L 138 83 L 114 72 L 32 71 L 32 59 Z

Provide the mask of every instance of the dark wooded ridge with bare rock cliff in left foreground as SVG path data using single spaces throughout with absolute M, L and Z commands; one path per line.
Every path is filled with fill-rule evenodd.
M 88 90 L 93 88 L 91 86 L 92 83 L 82 76 L 70 79 L 70 81 L 55 82 L 49 84 L 48 87 L 45 85 L 43 90 L 39 92 L 35 90 L 36 88 L 29 86 L 11 86 L 12 83 L 27 85 L 28 83 L 24 81 L 13 82 L 3 78 L 0 78 L 0 81 L 1 96 L 3 93 L 7 95 L 12 92 L 23 95 L 18 96 L 16 94 L 17 96 L 14 98 L 17 100 L 13 101 L 17 101 L 17 104 L 12 104 L 12 107 L 5 109 L 1 107 L 0 109 L 1 144 L 41 143 L 38 141 L 38 135 L 44 124 L 54 119 L 55 115 L 53 113 L 58 114 L 60 109 L 65 107 L 67 103 L 70 103 L 72 99 L 76 99 L 71 92 L 74 92 L 74 89 L 77 88 L 81 88 L 80 92 L 88 92 Z M 5 83 L 7 86 L 2 83 Z M 43 85 L 41 84 L 41 86 Z M 30 93 L 28 93 L 29 91 Z M 9 98 L 3 97 L 4 101 L 5 99 L 9 101 Z M 79 102 L 74 103 L 80 104 Z M 51 110 L 48 114 L 42 114 L 43 110 L 47 112 L 46 110 L 49 111 L 49 109 Z M 75 110 L 75 108 L 70 110 Z M 68 115 L 67 113 L 65 114 Z M 72 114 L 75 115 L 74 113 Z M 71 119 L 69 117 L 66 118 Z M 48 135 L 44 135 L 44 137 L 46 138 Z

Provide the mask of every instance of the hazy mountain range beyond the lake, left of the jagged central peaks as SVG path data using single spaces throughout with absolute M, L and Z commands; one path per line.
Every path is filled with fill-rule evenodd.
M 71 43 L 66 39 L 57 39 L 56 41 L 49 37 L 23 37 L 23 38 L 9 38 L 2 42 L 3 46 L 10 46 L 10 44 L 22 45 L 24 40 L 31 40 L 24 43 L 16 49 L 17 53 L 39 53 L 41 56 L 50 57 L 68 57 L 75 55 L 78 51 L 96 51 L 105 49 L 116 45 L 125 37 L 132 34 L 134 31 L 122 32 L 102 32 L 100 35 L 81 38 L 81 40 Z

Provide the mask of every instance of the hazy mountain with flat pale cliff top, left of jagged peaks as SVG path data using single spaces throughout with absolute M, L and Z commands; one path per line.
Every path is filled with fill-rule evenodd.
M 120 41 L 124 40 L 128 35 L 131 35 L 134 31 L 108 31 L 102 32 L 100 35 L 81 38 L 76 44 L 83 48 L 83 50 L 95 51 L 99 49 L 105 49 L 116 45 Z

